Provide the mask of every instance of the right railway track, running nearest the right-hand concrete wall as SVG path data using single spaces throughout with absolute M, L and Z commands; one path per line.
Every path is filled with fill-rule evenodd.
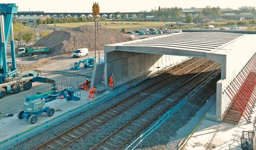
M 151 105 L 148 109 L 141 112 L 131 121 L 117 129 L 115 132 L 110 134 L 107 138 L 103 139 L 100 143 L 92 147 L 91 150 L 112 150 L 120 149 L 127 142 L 129 142 L 134 136 L 136 136 L 141 130 L 146 128 L 150 123 L 152 123 L 156 118 L 161 116 L 170 107 L 174 106 L 179 102 L 179 100 L 187 94 L 191 89 L 193 89 L 197 84 L 202 82 L 207 76 L 216 72 L 220 69 L 221 65 L 218 63 L 213 63 L 208 68 L 204 69 L 199 74 L 195 75 L 193 78 L 189 79 L 187 82 L 180 85 L 178 88 L 174 89 L 171 93 L 164 96 L 161 100 L 157 101 Z M 184 101 L 185 102 L 185 101 Z

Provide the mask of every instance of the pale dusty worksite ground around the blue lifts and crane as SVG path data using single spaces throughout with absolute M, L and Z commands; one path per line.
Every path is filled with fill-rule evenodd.
M 38 57 L 37 55 L 34 55 L 35 57 Z M 78 62 L 79 60 L 83 60 L 87 57 L 93 57 L 94 53 L 90 52 L 89 56 L 84 56 L 82 58 L 73 58 L 72 56 L 56 56 L 56 57 L 48 57 L 44 58 L 45 63 L 43 64 L 37 64 L 37 68 L 33 69 L 38 69 L 38 70 L 47 70 L 47 71 L 63 71 L 63 72 L 71 72 L 71 73 L 77 73 L 77 74 L 82 74 L 82 75 L 88 75 L 92 76 L 92 68 L 85 69 L 84 65 L 80 65 L 80 70 L 78 71 L 71 71 L 69 68 L 70 63 L 74 63 L 75 61 Z M 97 56 L 98 57 L 98 56 Z M 103 51 L 100 51 L 100 58 L 104 57 Z M 19 57 L 17 57 L 19 59 Z M 22 59 L 29 59 L 29 56 L 27 57 L 21 57 Z M 22 61 L 24 65 L 30 66 L 31 63 L 35 63 L 36 61 Z M 27 70 L 24 72 L 21 72 L 21 74 L 25 74 L 26 72 L 31 72 L 31 70 Z M 49 77 L 52 79 L 56 80 L 58 89 L 60 89 L 60 81 L 62 79 L 67 79 L 68 80 L 68 85 L 72 86 L 77 86 L 77 81 L 80 83 L 80 81 L 83 83 L 84 80 L 86 79 L 86 76 L 66 76 L 66 75 L 60 75 L 60 74 L 53 74 L 53 73 L 41 73 L 41 76 Z M 91 80 L 91 79 L 90 79 Z M 18 134 L 22 131 L 25 131 L 33 126 L 39 125 L 41 123 L 44 123 L 47 120 L 52 119 L 52 117 L 48 117 L 46 113 L 40 114 L 38 116 L 38 121 L 36 124 L 29 124 L 27 119 L 18 119 L 16 117 L 16 114 L 19 110 L 23 109 L 23 101 L 26 99 L 28 96 L 32 96 L 37 94 L 37 92 L 43 93 L 51 90 L 51 85 L 48 83 L 33 83 L 33 86 L 29 90 L 23 90 L 20 93 L 13 94 L 13 93 L 8 93 L 0 99 L 0 124 L 1 124 L 1 129 L 0 129 L 0 141 L 11 137 L 12 135 Z M 63 84 L 66 86 L 66 82 Z M 107 91 L 108 92 L 108 91 Z M 104 94 L 107 94 L 106 92 Z M 58 116 L 64 112 L 67 112 L 69 110 L 72 110 L 74 108 L 77 108 L 83 104 L 86 104 L 89 101 L 92 101 L 92 99 L 88 99 L 89 91 L 81 91 L 81 100 L 74 102 L 70 101 L 67 102 L 65 99 L 57 99 L 55 101 L 49 102 L 46 104 L 46 106 L 49 106 L 51 108 L 55 109 L 54 116 Z M 101 96 L 100 95 L 94 95 L 95 98 Z M 12 117 L 4 117 L 5 114 L 13 114 Z M 53 117 L 54 117 L 53 116 Z

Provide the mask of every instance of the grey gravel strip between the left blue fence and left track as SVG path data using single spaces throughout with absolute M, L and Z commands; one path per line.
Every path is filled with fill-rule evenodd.
M 144 89 L 148 85 L 160 80 L 161 78 L 164 78 L 167 75 L 169 75 L 169 73 L 164 73 L 164 74 L 158 75 L 154 78 L 145 80 L 144 82 L 140 83 L 137 87 L 129 89 L 105 103 L 99 103 L 97 105 L 94 105 L 90 109 L 82 111 L 79 114 L 77 114 L 74 117 L 71 117 L 67 120 L 63 120 L 62 122 L 60 122 L 56 125 L 53 125 L 50 128 L 46 128 L 46 129 L 42 130 L 41 132 L 38 132 L 36 135 L 31 136 L 31 138 L 28 138 L 26 141 L 23 140 L 21 143 L 18 143 L 18 145 L 16 144 L 16 145 L 10 147 L 9 149 L 17 150 L 17 148 L 19 148 L 21 150 L 22 149 L 26 150 L 26 149 L 35 148 L 36 146 L 43 144 L 45 141 L 52 139 L 53 136 L 57 136 L 60 133 L 75 126 L 76 123 L 83 122 L 84 120 L 94 116 L 95 113 L 105 110 L 106 108 L 110 107 L 111 105 L 116 104 L 117 102 L 123 100 L 124 98 L 138 92 L 141 89 Z M 72 121 L 74 121 L 76 123 L 74 123 Z M 50 134 L 53 136 L 51 136 Z M 37 139 L 37 140 L 35 140 L 35 139 Z

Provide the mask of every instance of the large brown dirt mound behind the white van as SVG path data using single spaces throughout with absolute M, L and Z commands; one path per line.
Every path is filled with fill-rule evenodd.
M 94 51 L 95 27 L 90 25 L 78 26 L 74 29 L 55 30 L 37 41 L 32 47 L 46 46 L 50 54 L 70 54 L 79 48 L 88 48 Z M 99 47 L 104 45 L 134 40 L 132 37 L 116 30 L 99 26 Z M 98 41 L 98 40 L 96 40 Z M 97 44 L 98 49 L 98 44 Z

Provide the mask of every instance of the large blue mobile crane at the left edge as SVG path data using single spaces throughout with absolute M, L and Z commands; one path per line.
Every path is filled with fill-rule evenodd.
M 0 4 L 0 98 L 9 92 L 18 93 L 23 89 L 28 90 L 32 87 L 32 82 L 51 83 L 55 86 L 55 80 L 39 76 L 38 72 L 19 75 L 15 60 L 12 26 L 13 15 L 17 11 L 16 4 Z M 7 61 L 6 57 L 6 46 L 9 37 L 11 39 L 12 61 Z

